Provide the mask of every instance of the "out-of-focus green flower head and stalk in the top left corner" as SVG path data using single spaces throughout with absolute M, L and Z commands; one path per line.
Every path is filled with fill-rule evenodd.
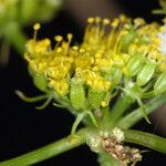
M 23 53 L 28 40 L 23 28 L 53 19 L 62 0 L 1 0 L 0 1 L 0 62 L 8 63 L 10 45 Z

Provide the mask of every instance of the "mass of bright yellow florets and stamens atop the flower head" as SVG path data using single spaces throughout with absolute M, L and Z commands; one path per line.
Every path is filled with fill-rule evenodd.
M 129 62 L 134 56 L 141 56 L 143 64 L 154 62 L 157 72 L 166 71 L 166 55 L 160 51 L 160 34 L 165 28 L 157 23 L 146 24 L 141 18 L 132 20 L 120 15 L 113 21 L 89 18 L 80 45 L 71 44 L 73 35 L 69 33 L 66 40 L 56 35 L 53 49 L 49 39 L 37 40 L 39 29 L 35 24 L 24 56 L 30 69 L 45 75 L 49 89 L 60 96 L 70 92 L 73 77 L 81 79 L 86 89 L 95 92 L 111 91 L 118 75 L 107 75 L 115 69 L 124 75 L 134 75 L 131 65 L 136 65 L 137 60 Z

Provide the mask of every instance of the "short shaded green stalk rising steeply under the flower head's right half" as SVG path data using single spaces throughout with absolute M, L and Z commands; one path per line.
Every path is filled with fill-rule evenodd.
M 131 106 L 133 100 L 128 95 L 121 95 L 112 110 L 112 124 L 117 122 L 124 112 Z

